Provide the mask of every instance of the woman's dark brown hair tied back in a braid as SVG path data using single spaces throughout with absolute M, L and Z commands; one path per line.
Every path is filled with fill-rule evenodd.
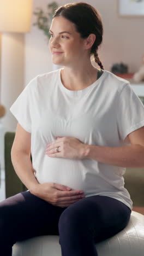
M 95 34 L 96 39 L 91 48 L 91 55 L 94 55 L 94 60 L 100 68 L 104 69 L 98 57 L 98 47 L 103 41 L 103 24 L 98 10 L 87 3 L 68 3 L 55 11 L 53 18 L 57 16 L 73 22 L 82 38 L 87 38 L 91 33 Z

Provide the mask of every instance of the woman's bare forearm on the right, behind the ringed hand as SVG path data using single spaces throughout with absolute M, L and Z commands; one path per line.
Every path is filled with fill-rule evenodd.
M 141 145 L 128 147 L 104 147 L 87 145 L 84 158 L 121 167 L 144 167 L 144 148 Z

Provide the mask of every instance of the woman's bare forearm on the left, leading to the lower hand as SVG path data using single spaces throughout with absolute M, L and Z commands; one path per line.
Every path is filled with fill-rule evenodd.
M 25 153 L 13 152 L 13 154 L 11 153 L 11 161 L 17 176 L 21 179 L 22 183 L 25 184 L 29 191 L 32 192 L 35 185 L 39 183 L 34 176 L 34 170 L 29 156 Z

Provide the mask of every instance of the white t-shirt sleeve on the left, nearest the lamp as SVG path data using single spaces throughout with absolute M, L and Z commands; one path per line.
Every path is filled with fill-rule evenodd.
M 27 132 L 31 132 L 32 125 L 32 93 L 35 87 L 35 79 L 31 80 L 19 97 L 10 107 L 10 112 L 17 119 L 17 122 Z

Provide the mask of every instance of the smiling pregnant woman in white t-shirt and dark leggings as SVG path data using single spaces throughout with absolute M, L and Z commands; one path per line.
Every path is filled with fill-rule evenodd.
M 0 203 L 1 254 L 11 256 L 16 241 L 59 235 L 62 256 L 97 256 L 95 243 L 129 222 L 123 174 L 144 166 L 144 107 L 99 60 L 94 7 L 59 7 L 50 33 L 52 62 L 63 68 L 32 79 L 10 108 L 18 122 L 11 160 L 28 190 Z

